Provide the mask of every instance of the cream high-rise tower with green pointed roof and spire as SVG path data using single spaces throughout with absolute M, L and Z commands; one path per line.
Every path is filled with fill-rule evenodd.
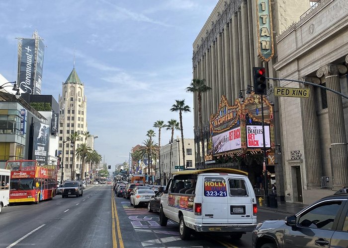
M 84 134 L 87 132 L 85 87 L 75 68 L 62 86 L 62 95 L 59 95 L 59 153 L 64 167 L 63 179 L 79 179 L 82 163 L 74 153 L 85 142 Z M 79 134 L 75 143 L 70 140 L 74 132 Z

